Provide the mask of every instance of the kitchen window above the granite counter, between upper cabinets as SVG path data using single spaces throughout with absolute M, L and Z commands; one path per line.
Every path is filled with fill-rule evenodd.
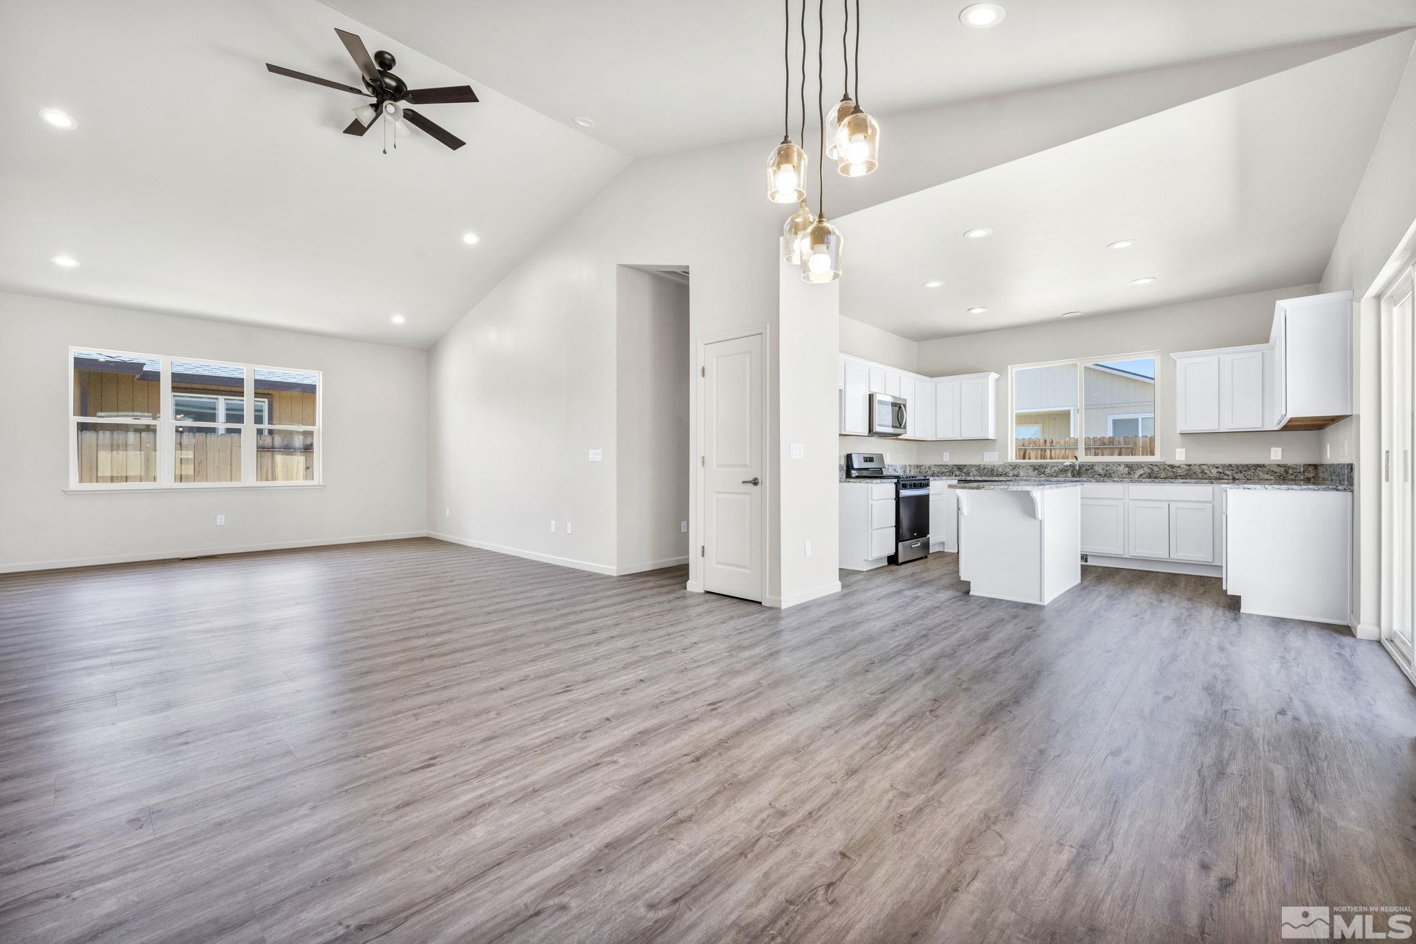
M 1010 369 L 1015 461 L 1155 457 L 1155 355 Z

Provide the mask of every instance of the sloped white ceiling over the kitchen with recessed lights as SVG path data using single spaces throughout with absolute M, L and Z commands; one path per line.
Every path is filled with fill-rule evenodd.
M 838 217 L 841 313 L 925 340 L 1318 282 L 1412 41 Z M 974 226 L 994 234 L 964 239 Z M 1137 243 L 1107 249 L 1120 239 Z M 1130 284 L 1141 276 L 1157 282 Z M 930 279 L 946 284 L 922 287 Z

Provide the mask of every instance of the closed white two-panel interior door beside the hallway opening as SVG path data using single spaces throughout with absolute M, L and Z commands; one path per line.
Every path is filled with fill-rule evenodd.
M 762 368 L 760 334 L 704 345 L 704 590 L 759 601 L 766 585 Z

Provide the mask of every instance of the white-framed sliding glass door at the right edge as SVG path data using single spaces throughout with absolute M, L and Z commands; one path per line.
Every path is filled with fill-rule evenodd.
M 1416 661 L 1416 493 L 1412 488 L 1416 331 L 1412 304 L 1412 270 L 1408 269 L 1382 299 L 1382 635 L 1408 667 Z

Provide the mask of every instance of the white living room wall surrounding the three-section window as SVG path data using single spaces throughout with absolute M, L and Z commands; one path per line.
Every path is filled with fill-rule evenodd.
M 428 355 L 0 293 L 0 570 L 412 536 L 426 531 Z M 69 345 L 323 371 L 324 485 L 67 494 Z M 217 526 L 215 517 L 227 515 Z

